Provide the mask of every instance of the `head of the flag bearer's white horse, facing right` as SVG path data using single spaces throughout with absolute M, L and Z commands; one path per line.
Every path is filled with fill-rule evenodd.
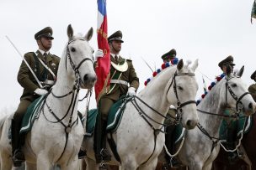
M 183 59 L 179 60 L 173 79 L 168 82 L 168 102 L 177 108 L 181 122 L 187 129 L 195 128 L 198 122 L 195 105 L 195 95 L 198 90 L 195 80 L 197 66 L 198 59 L 191 67 L 189 67 L 189 63 L 184 65 Z M 173 90 L 170 90 L 171 86 L 173 86 Z

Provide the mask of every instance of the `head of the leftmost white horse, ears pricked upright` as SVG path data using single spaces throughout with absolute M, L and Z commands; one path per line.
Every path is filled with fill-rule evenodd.
M 70 64 L 70 75 L 79 81 L 82 88 L 92 88 L 96 82 L 96 74 L 93 70 L 93 48 L 88 44 L 88 41 L 93 36 L 93 28 L 88 30 L 88 33 L 83 36 L 81 34 L 73 35 L 71 25 L 67 27 L 68 43 L 66 49 L 66 69 L 67 59 Z

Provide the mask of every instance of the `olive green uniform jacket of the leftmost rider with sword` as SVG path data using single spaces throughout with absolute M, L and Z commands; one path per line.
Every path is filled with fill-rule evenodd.
M 32 70 L 34 70 L 35 75 L 39 78 L 41 81 L 41 78 L 43 75 L 45 75 L 45 67 L 40 63 L 40 61 L 35 61 L 35 56 L 39 57 L 42 61 L 44 61 L 43 55 L 40 53 L 39 50 L 34 52 L 29 52 L 24 54 L 24 59 L 26 59 L 27 63 L 31 67 Z M 54 54 L 48 54 L 46 57 L 46 65 L 52 70 L 52 72 L 57 75 L 57 70 L 59 67 L 60 58 L 57 57 Z M 39 66 L 39 69 L 37 68 L 37 65 Z M 38 76 L 39 75 L 39 76 Z M 46 70 L 46 77 L 48 80 L 54 80 L 51 73 Z M 30 72 L 28 66 L 25 64 L 24 60 L 22 61 L 20 67 L 19 67 L 19 73 L 17 76 L 19 84 L 24 88 L 23 94 L 20 97 L 20 100 L 22 99 L 28 99 L 28 100 L 35 100 L 34 91 L 37 88 L 40 88 L 40 85 L 37 84 L 35 77 Z

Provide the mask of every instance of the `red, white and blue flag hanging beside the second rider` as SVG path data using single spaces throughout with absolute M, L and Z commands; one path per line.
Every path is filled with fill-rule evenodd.
M 94 86 L 95 97 L 97 103 L 109 86 L 110 75 L 110 52 L 108 44 L 108 23 L 107 23 L 107 9 L 106 0 L 98 0 L 98 48 L 104 52 L 104 57 L 97 59 L 95 72 L 97 75 L 97 82 Z

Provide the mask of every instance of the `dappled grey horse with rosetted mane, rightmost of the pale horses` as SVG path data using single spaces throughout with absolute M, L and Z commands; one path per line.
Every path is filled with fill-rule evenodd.
M 187 132 L 179 152 L 179 159 L 189 166 L 189 170 L 211 170 L 212 162 L 220 150 L 219 129 L 224 118 L 223 110 L 227 106 L 232 108 L 234 114 L 241 104 L 244 114 L 254 113 L 256 103 L 249 95 L 242 75 L 243 68 L 237 75 L 222 78 L 197 106 L 200 128 Z

